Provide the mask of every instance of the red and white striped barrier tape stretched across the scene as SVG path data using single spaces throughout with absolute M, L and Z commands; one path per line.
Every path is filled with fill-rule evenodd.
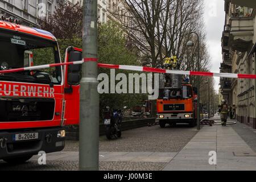
M 45 64 L 45 65 L 26 67 L 26 68 L 6 69 L 6 70 L 0 71 L 0 74 L 1 73 L 22 72 L 22 71 L 32 71 L 35 69 L 46 69 L 46 68 L 51 68 L 51 67 L 59 67 L 62 65 L 82 64 L 87 61 L 97 61 L 97 59 L 96 58 L 85 58 L 84 60 L 81 60 L 81 61 L 74 61 L 74 62 L 68 62 L 68 63 L 54 63 L 54 64 Z M 140 71 L 140 72 L 167 73 L 167 74 L 176 74 L 176 75 L 216 76 L 216 77 L 223 77 L 223 78 L 251 78 L 251 79 L 256 78 L 256 75 L 179 71 L 179 70 L 159 69 L 159 68 L 151 68 L 151 67 L 140 67 L 140 66 L 133 66 L 133 65 L 115 65 L 115 64 L 98 63 L 98 67 L 123 69 L 123 70 L 129 70 L 129 71 Z

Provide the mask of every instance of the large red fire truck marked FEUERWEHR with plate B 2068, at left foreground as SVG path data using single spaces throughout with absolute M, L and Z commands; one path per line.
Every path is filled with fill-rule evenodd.
M 50 32 L 0 20 L 0 70 L 61 63 Z M 64 62 L 82 60 L 68 47 Z M 81 65 L 0 74 L 0 159 L 20 163 L 61 151 L 64 126 L 79 123 Z

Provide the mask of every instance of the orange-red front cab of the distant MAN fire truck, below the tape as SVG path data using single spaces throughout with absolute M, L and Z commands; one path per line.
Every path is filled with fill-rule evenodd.
M 160 127 L 165 127 L 166 123 L 196 125 L 196 88 L 193 88 L 188 82 L 183 82 L 180 88 L 159 89 L 159 95 L 156 107 Z

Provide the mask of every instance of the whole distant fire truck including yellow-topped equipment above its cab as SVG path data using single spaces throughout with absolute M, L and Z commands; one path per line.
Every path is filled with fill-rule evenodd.
M 176 69 L 176 64 L 165 66 Z M 157 119 L 160 127 L 168 123 L 196 124 L 197 91 L 189 84 L 189 79 L 181 75 L 162 74 L 159 77 L 159 98 L 156 101 Z

